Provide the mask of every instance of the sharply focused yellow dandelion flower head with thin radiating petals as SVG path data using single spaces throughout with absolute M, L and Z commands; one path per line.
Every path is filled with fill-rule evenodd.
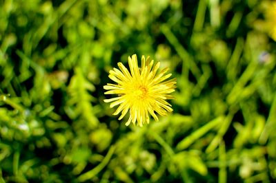
M 166 99 L 172 99 L 170 93 L 175 91 L 176 78 L 170 78 L 172 74 L 166 74 L 168 68 L 162 69 L 157 74 L 157 69 L 160 63 L 157 62 L 153 66 L 154 61 L 150 61 L 148 56 L 141 58 L 141 67 L 138 67 L 136 54 L 132 58 L 128 56 L 128 65 L 130 72 L 122 64 L 118 63 L 119 69 L 114 68 L 109 72 L 109 78 L 117 84 L 110 84 L 103 86 L 104 89 L 109 90 L 104 94 L 117 94 L 115 98 L 104 100 L 110 103 L 110 107 L 119 105 L 113 115 L 118 115 L 121 112 L 119 120 L 124 118 L 128 111 L 130 116 L 126 125 L 130 122 L 141 127 L 143 123 L 150 122 L 149 114 L 158 121 L 158 117 L 166 116 L 167 112 L 171 112 L 171 105 L 166 102 Z M 166 80 L 166 81 L 165 81 Z

